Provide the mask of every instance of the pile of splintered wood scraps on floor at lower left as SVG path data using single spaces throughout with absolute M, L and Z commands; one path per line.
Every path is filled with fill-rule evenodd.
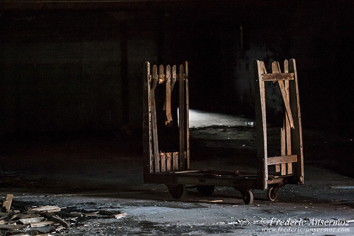
M 78 219 L 87 217 L 118 219 L 127 215 L 125 212 L 106 210 L 66 212 L 62 211 L 66 207 L 49 205 L 30 207 L 22 202 L 13 201 L 13 197 L 12 194 L 6 195 L 0 209 L 0 235 L 44 236 L 79 225 Z

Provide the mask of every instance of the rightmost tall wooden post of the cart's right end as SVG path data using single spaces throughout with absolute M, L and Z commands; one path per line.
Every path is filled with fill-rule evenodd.
M 300 101 L 299 101 L 299 88 L 297 82 L 297 71 L 295 59 L 290 59 L 289 72 L 294 73 L 294 79 L 289 83 L 290 86 L 290 104 L 291 111 L 295 117 L 294 130 L 291 132 L 291 144 L 292 154 L 297 155 L 297 162 L 294 165 L 295 176 L 298 177 L 299 183 L 303 183 L 303 150 L 302 150 L 302 127 L 301 127 L 301 113 L 300 113 Z

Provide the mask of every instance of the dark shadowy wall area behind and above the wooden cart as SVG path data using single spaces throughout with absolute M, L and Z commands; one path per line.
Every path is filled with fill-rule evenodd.
M 352 14 L 350 1 L 2 1 L 0 137 L 142 137 L 145 61 L 189 62 L 191 109 L 254 118 L 254 60 L 290 58 L 303 127 L 352 137 Z

